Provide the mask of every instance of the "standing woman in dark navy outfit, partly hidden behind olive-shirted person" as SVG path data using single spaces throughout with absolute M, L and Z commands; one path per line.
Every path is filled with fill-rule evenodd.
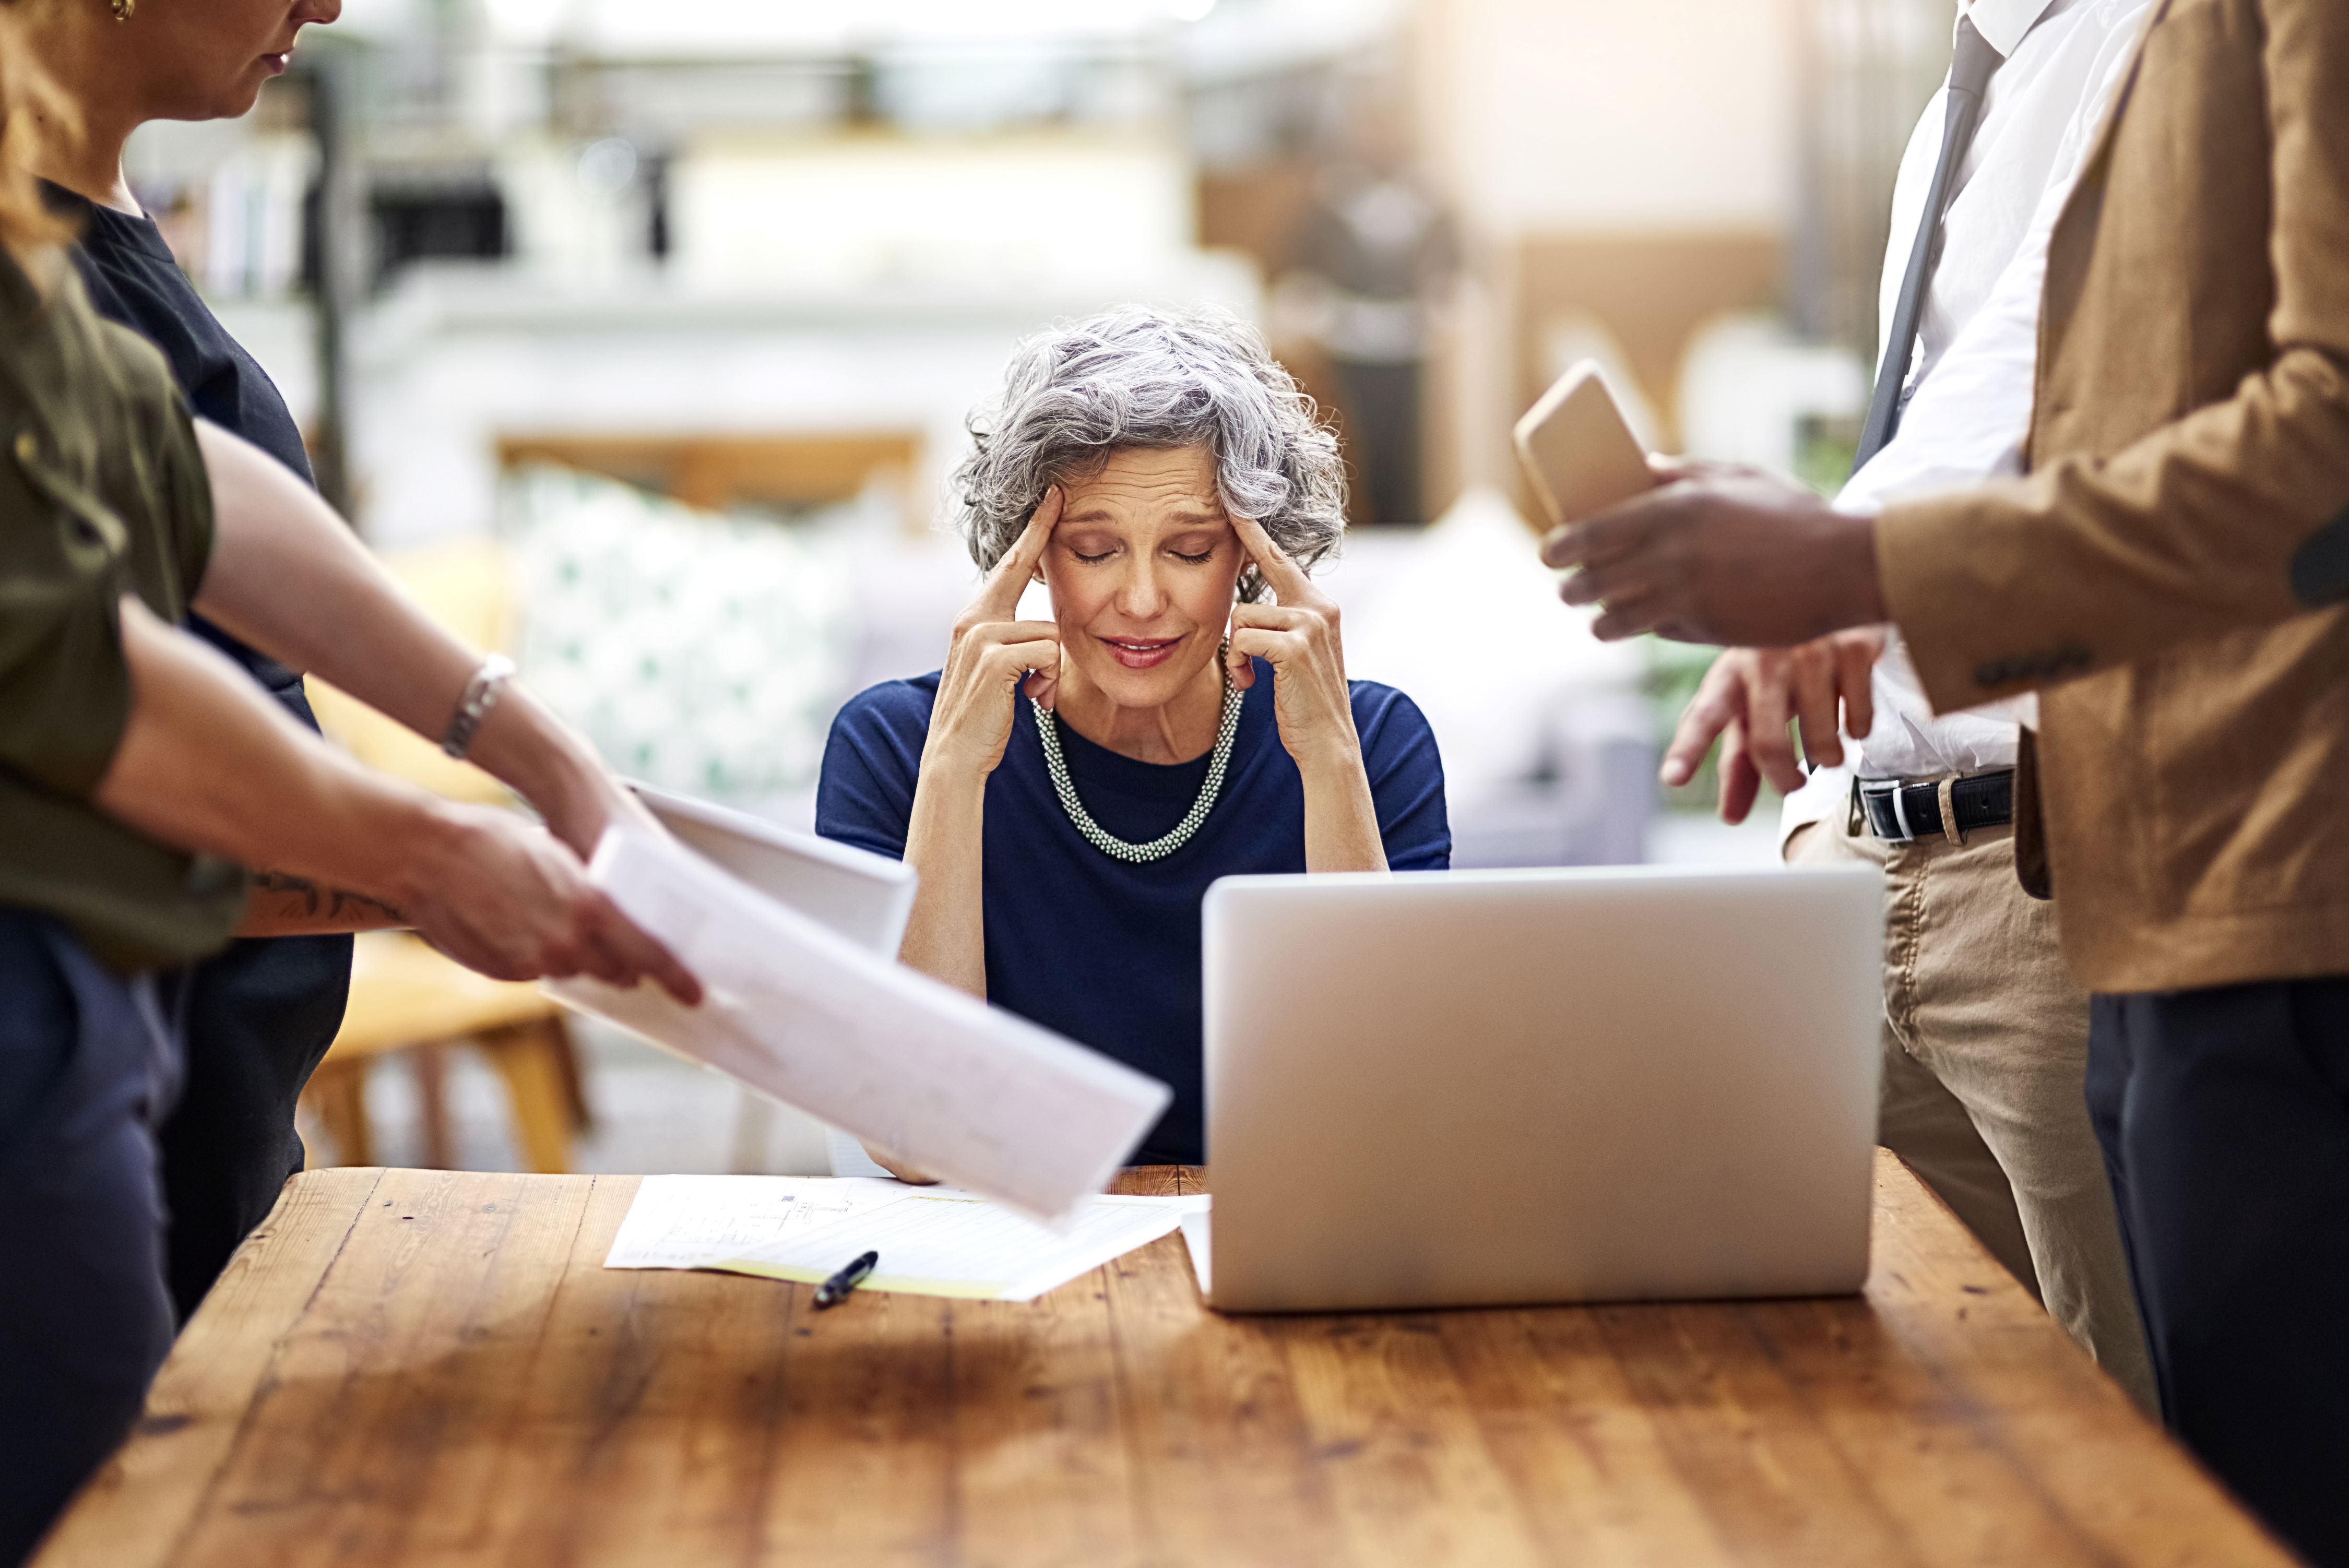
M 33 171 L 52 211 L 78 228 L 75 270 L 99 315 L 162 350 L 197 418 L 244 437 L 310 484 L 301 430 L 277 387 L 181 275 L 122 178 L 122 146 L 148 120 L 251 110 L 284 73 L 305 23 L 341 0 L 9 0 L 23 42 L 80 115 L 73 141 L 45 138 Z M 317 728 L 301 676 L 202 617 L 188 629 L 244 667 Z M 348 904 L 345 904 L 348 908 Z M 186 969 L 179 1007 L 188 1080 L 162 1131 L 171 1298 L 186 1322 L 301 1169 L 294 1103 L 343 1023 L 350 937 L 237 941 Z

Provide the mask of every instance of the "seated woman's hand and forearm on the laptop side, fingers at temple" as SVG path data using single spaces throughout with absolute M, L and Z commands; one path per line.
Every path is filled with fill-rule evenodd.
M 1276 603 L 1231 606 L 1231 683 L 1257 683 L 1254 660 L 1273 667 L 1273 718 L 1280 744 L 1306 786 L 1306 871 L 1386 871 L 1379 810 L 1353 728 L 1346 648 L 1337 601 L 1250 516 L 1233 516 L 1240 545 Z

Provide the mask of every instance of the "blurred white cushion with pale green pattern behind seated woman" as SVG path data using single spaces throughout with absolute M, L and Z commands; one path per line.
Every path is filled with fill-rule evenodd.
M 747 807 L 815 786 L 855 638 L 836 533 L 561 467 L 507 484 L 500 533 L 521 676 L 604 761 Z

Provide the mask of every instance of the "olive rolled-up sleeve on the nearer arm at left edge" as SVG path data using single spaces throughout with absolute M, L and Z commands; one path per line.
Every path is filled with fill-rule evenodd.
M 31 441 L 31 437 L 19 437 Z M 85 798 L 132 714 L 122 530 L 59 507 L 0 455 L 0 768 Z

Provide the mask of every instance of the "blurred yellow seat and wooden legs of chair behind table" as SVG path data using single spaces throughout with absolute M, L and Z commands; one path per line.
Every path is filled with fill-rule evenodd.
M 524 1167 L 566 1174 L 587 1103 L 564 1009 L 538 986 L 484 979 L 406 932 L 359 937 L 343 1030 L 303 1091 L 338 1162 L 376 1162 L 366 1075 L 383 1056 L 406 1054 L 423 1101 L 423 1164 L 456 1164 L 444 1089 L 453 1045 L 479 1049 L 505 1082 Z

